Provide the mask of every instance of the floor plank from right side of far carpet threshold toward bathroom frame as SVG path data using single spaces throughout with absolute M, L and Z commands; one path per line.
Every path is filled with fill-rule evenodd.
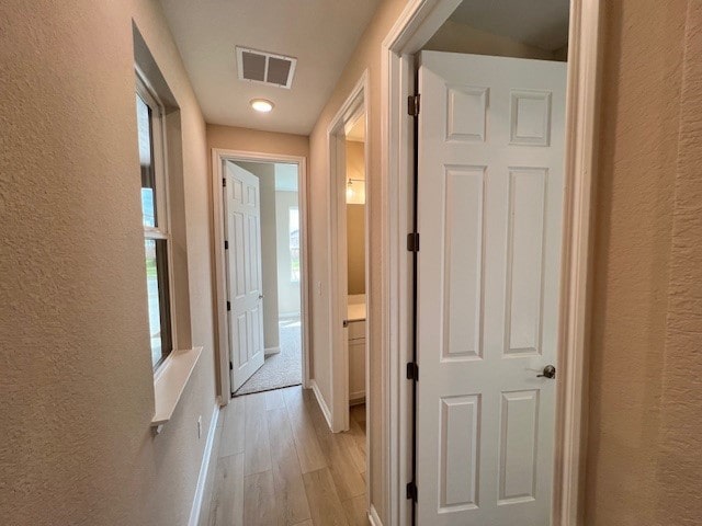
M 285 409 L 293 427 L 293 438 L 297 458 L 303 473 L 316 471 L 327 466 L 327 458 L 321 453 L 317 433 L 310 414 L 305 409 L 303 389 L 284 390 Z

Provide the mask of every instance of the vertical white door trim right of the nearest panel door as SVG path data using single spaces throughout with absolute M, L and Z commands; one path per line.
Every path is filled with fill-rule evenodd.
M 552 524 L 582 524 L 587 432 L 586 341 L 592 182 L 597 167 L 601 0 L 570 0 L 570 47 L 566 95 L 566 192 L 556 412 L 556 473 Z

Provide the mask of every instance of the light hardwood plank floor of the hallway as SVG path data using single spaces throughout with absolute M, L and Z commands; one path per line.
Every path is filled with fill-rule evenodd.
M 235 398 L 213 447 L 201 526 L 370 525 L 363 405 L 333 434 L 312 390 Z

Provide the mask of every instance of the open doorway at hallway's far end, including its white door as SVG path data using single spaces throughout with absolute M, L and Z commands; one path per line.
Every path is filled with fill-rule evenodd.
M 222 382 L 234 397 L 306 385 L 304 159 L 215 150 L 213 162 Z

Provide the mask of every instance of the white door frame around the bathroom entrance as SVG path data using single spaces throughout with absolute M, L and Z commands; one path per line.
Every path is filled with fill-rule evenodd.
M 353 90 L 341 105 L 327 127 L 327 151 L 329 152 L 329 184 L 327 203 L 329 206 L 329 229 L 327 230 L 327 243 L 329 247 L 329 348 L 330 348 L 330 375 L 331 400 L 327 421 L 331 431 L 339 433 L 349 430 L 349 346 L 344 320 L 347 319 L 348 301 L 348 268 L 347 268 L 347 218 L 346 218 L 346 134 L 349 127 L 363 114 L 365 114 L 365 144 L 363 149 L 363 163 L 365 170 L 365 225 L 369 225 L 369 196 L 371 184 L 369 181 L 369 118 L 367 94 L 369 71 L 363 71 Z M 371 294 L 369 287 L 369 250 L 370 235 L 365 229 L 365 408 L 366 422 L 370 422 L 370 379 L 369 357 L 371 348 Z M 321 404 L 320 404 L 321 405 Z M 366 427 L 366 442 L 370 433 Z M 367 464 L 367 462 L 366 462 Z M 367 466 L 366 466 L 367 469 Z M 370 473 L 370 471 L 366 470 Z M 370 480 L 370 477 L 369 477 Z M 367 484 L 366 484 L 367 485 Z M 366 492 L 367 493 L 367 492 Z

